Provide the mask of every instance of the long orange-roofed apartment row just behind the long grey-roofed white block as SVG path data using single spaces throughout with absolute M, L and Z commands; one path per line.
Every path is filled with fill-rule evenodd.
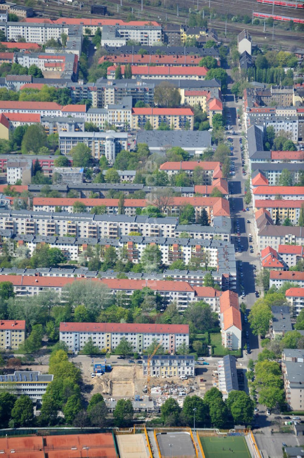
M 153 198 L 152 198 L 153 199 Z M 148 205 L 153 204 L 147 199 L 126 199 L 124 202 L 124 214 L 128 216 L 135 216 L 137 209 L 143 209 Z M 62 212 L 74 213 L 74 206 L 81 203 L 85 206 L 85 211 L 91 212 L 94 207 L 105 207 L 105 213 L 118 214 L 119 213 L 119 199 L 76 199 L 76 198 L 49 198 L 49 197 L 34 197 L 33 198 L 33 211 L 54 212 L 56 208 L 60 208 Z M 165 209 L 164 214 L 167 216 L 179 217 L 181 209 L 185 205 L 190 204 L 194 207 L 195 222 L 199 222 L 200 215 L 203 208 L 208 213 L 208 218 L 213 224 L 213 218 L 216 216 L 230 216 L 229 202 L 222 197 L 172 197 Z

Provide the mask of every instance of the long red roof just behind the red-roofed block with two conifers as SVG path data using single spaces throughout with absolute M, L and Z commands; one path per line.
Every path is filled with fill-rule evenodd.
M 198 65 L 202 56 L 197 55 L 159 55 L 159 54 L 114 54 L 102 56 L 98 63 L 113 62 L 113 64 L 157 64 L 157 65 Z M 207 92 L 206 92 L 207 94 Z

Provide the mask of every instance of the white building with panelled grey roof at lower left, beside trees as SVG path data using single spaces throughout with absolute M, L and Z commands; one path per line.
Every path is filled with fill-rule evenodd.
M 15 371 L 12 375 L 0 375 L 0 392 L 32 399 L 33 403 L 41 403 L 42 396 L 48 385 L 53 382 L 52 374 L 41 374 L 40 371 Z

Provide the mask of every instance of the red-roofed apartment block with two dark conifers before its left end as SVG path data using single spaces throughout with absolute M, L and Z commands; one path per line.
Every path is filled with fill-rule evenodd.
M 107 78 L 115 79 L 115 71 L 117 65 L 112 65 L 107 68 Z M 124 76 L 125 65 L 121 65 L 122 76 Z M 131 65 L 132 78 L 149 78 L 151 80 L 203 80 L 207 75 L 205 67 L 171 67 L 167 65 L 146 66 L 146 65 Z

